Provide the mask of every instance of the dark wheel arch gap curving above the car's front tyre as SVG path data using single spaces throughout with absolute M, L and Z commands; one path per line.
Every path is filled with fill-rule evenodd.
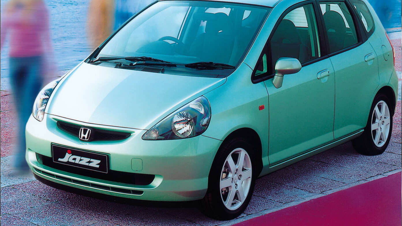
M 262 143 L 261 143 L 261 139 L 260 136 L 258 135 L 258 133 L 253 130 L 252 128 L 238 128 L 236 130 L 234 130 L 233 132 L 231 132 L 228 136 L 226 136 L 226 138 L 224 139 L 224 141 L 222 142 L 221 146 L 224 145 L 224 143 L 232 138 L 245 138 L 246 140 L 248 140 L 250 142 L 250 144 L 252 144 L 255 147 L 255 157 L 256 157 L 256 176 L 258 176 L 261 171 L 263 170 L 263 147 L 262 147 Z M 220 148 L 220 147 L 219 147 Z

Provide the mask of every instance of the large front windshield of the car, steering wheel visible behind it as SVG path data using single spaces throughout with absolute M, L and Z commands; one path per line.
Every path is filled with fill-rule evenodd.
M 177 65 L 213 62 L 226 67 L 208 65 L 201 72 L 199 67 L 167 70 L 228 76 L 241 63 L 269 10 L 225 2 L 156 2 L 117 32 L 97 57 L 152 57 Z

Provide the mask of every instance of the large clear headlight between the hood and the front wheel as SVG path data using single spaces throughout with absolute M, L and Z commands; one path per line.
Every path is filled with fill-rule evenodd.
M 211 120 L 211 106 L 201 96 L 158 122 L 143 136 L 144 140 L 174 140 L 202 134 Z

